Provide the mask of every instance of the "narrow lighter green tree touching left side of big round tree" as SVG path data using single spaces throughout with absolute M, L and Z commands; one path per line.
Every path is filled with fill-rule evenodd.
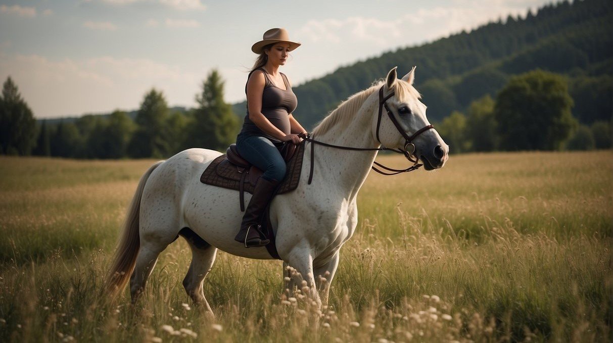
M 475 100 L 468 108 L 465 137 L 472 151 L 495 151 L 498 147 L 498 125 L 494 118 L 494 100 L 489 95 Z

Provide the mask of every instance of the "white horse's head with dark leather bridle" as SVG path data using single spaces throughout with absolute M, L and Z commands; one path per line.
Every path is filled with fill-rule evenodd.
M 449 146 L 428 123 L 426 107 L 413 87 L 415 67 L 401 80 L 396 68 L 390 70 L 379 89 L 378 115 L 373 134 L 383 146 L 408 150 L 422 160 L 425 170 L 441 168 L 448 158 Z

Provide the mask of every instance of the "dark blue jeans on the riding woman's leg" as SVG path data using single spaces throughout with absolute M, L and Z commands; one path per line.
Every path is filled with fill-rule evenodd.
M 276 146 L 266 137 L 238 135 L 236 148 L 243 159 L 264 171 L 262 178 L 281 181 L 285 178 L 286 164 Z

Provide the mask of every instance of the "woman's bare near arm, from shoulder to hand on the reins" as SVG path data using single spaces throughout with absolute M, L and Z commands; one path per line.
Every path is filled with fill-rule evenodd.
M 249 109 L 249 119 L 253 121 L 253 123 L 256 124 L 259 129 L 264 131 L 265 134 L 280 141 L 292 141 L 294 144 L 299 144 L 301 141 L 300 137 L 295 134 L 284 134 L 283 131 L 270 123 L 268 118 L 262 114 L 262 94 L 264 94 L 265 85 L 266 80 L 264 78 L 264 73 L 262 73 L 261 70 L 256 70 L 253 72 L 247 81 L 247 105 Z

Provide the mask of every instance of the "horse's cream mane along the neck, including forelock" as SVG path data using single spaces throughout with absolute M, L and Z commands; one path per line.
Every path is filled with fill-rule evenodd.
M 326 118 L 313 129 L 313 135 L 325 134 L 331 127 L 341 124 L 343 126 L 348 125 L 349 121 L 357 113 L 357 110 L 362 107 L 364 101 L 373 92 L 377 91 L 383 85 L 384 81 L 376 81 L 370 88 L 364 89 L 364 91 L 357 92 L 350 96 L 347 100 L 341 102 L 338 107 L 333 110 Z M 408 82 L 397 80 L 394 85 L 394 92 L 399 99 L 405 99 L 407 96 L 414 96 L 417 99 L 421 99 L 421 95 L 417 92 L 413 86 Z

